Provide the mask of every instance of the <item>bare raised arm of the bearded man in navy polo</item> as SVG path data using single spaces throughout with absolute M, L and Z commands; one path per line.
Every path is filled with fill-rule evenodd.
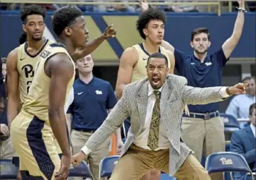
M 234 24 L 234 30 L 226 42 L 223 43 L 222 49 L 226 58 L 229 58 L 234 48 L 238 44 L 240 37 L 242 35 L 242 30 L 244 27 L 244 0 L 238 1 L 239 3 L 239 12 L 236 17 L 236 22 Z

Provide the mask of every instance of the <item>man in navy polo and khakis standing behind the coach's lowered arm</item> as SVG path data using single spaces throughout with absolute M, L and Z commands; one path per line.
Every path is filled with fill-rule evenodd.
M 108 81 L 93 76 L 93 58 L 85 56 L 76 61 L 79 77 L 74 81 L 74 101 L 67 112 L 69 129 L 71 127 L 71 144 L 73 153 L 79 153 L 93 132 L 100 127 L 108 112 L 117 102 L 114 90 Z M 72 121 L 71 121 L 72 115 Z M 72 123 L 71 123 L 72 122 Z M 123 145 L 120 129 L 116 130 L 118 146 Z M 108 156 L 111 138 L 109 137 L 101 146 L 90 153 L 87 161 L 93 179 L 98 180 L 99 164 L 101 159 Z M 82 179 L 82 178 L 74 178 Z

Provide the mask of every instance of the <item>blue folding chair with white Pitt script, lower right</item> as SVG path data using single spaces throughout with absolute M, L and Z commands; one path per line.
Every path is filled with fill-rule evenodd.
M 244 156 L 233 152 L 212 153 L 206 158 L 205 169 L 209 174 L 216 172 L 230 172 L 233 180 L 233 172 L 249 173 L 254 180 Z

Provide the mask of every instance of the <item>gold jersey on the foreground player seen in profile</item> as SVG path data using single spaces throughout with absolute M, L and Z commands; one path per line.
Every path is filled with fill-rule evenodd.
M 65 48 L 63 48 L 61 45 L 56 45 L 56 44 L 48 45 L 42 51 L 42 53 L 40 53 L 40 61 L 38 63 L 38 66 L 36 66 L 36 69 L 35 69 L 35 77 L 33 79 L 33 83 L 30 86 L 30 91 L 27 94 L 27 99 L 25 100 L 25 103 L 23 104 L 23 107 L 21 110 L 25 114 L 36 116 L 40 120 L 43 120 L 46 122 L 48 122 L 49 88 L 50 88 L 51 78 L 46 75 L 44 71 L 44 66 L 45 66 L 46 60 L 56 53 L 67 54 L 74 66 L 74 62 Z M 65 104 L 67 103 L 69 91 L 72 90 L 72 85 L 74 83 L 74 75 L 75 75 L 75 66 L 74 66 L 74 74 L 67 85 L 67 94 L 65 98 L 66 99 Z

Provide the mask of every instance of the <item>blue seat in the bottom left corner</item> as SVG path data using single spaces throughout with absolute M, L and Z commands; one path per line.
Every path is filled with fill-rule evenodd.
M 17 171 L 12 160 L 0 159 L 0 179 L 17 179 Z

